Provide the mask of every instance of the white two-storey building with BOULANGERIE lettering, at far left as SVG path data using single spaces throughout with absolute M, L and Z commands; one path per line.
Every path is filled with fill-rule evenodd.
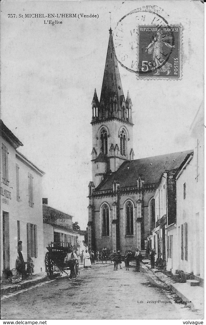
M 16 267 L 18 240 L 34 273 L 44 271 L 42 176 L 16 149 L 23 144 L 1 121 L 1 275 Z

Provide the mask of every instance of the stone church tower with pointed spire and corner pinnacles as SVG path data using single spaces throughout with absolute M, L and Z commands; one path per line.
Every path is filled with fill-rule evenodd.
M 132 101 L 125 100 L 120 73 L 109 30 L 109 44 L 100 100 L 95 89 L 92 100 L 92 181 L 97 187 L 109 171 L 134 159 Z

